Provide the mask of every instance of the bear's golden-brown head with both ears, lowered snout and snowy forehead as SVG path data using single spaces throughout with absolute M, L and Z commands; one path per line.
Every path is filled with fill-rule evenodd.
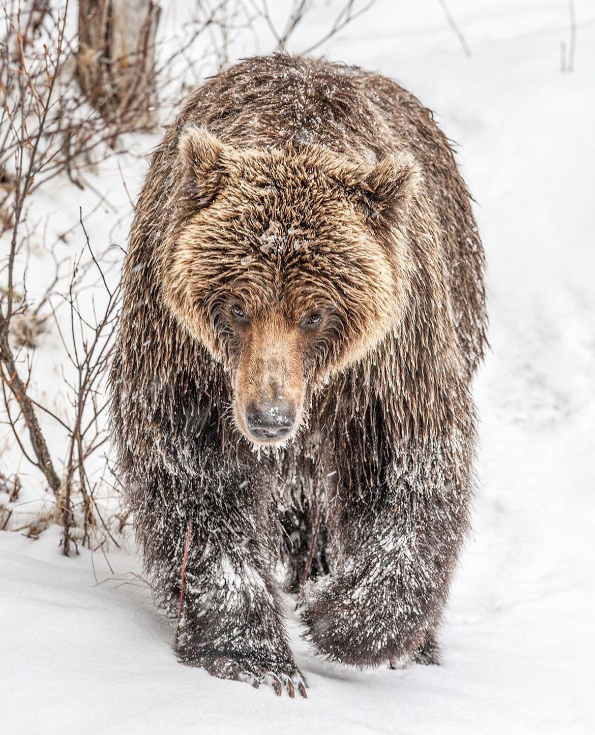
M 399 324 L 420 168 L 406 151 L 363 165 L 322 146 L 238 150 L 202 128 L 182 133 L 179 166 L 166 304 L 229 370 L 238 429 L 282 442 Z

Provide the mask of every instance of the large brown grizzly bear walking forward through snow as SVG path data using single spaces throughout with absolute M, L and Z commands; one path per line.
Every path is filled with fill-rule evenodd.
M 138 199 L 110 378 L 180 661 L 305 696 L 284 585 L 330 659 L 437 661 L 483 266 L 452 149 L 390 79 L 275 55 L 191 94 Z

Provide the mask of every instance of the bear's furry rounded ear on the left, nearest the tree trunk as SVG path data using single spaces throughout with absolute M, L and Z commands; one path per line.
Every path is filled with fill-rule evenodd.
M 229 158 L 229 146 L 203 127 L 188 127 L 179 137 L 184 188 L 206 206 L 221 187 Z

